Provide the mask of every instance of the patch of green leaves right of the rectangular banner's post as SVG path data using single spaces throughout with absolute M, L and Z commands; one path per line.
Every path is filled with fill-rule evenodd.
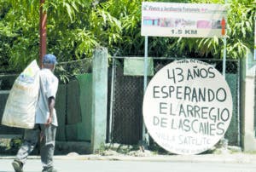
M 235 0 L 230 4 L 228 53 L 236 59 L 243 57 L 247 49 L 253 49 L 254 18 L 256 4 L 253 1 Z

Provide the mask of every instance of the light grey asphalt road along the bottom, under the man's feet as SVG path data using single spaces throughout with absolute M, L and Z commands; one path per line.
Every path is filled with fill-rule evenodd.
M 0 172 L 14 171 L 11 159 L 0 159 Z M 61 172 L 255 172 L 255 163 L 189 163 L 56 159 Z M 39 159 L 28 159 L 25 172 L 41 171 Z

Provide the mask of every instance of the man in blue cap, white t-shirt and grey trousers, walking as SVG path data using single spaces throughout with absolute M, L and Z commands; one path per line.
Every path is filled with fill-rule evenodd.
M 57 63 L 54 54 L 46 54 L 43 59 L 43 69 L 39 72 L 40 89 L 36 109 L 34 129 L 26 129 L 24 141 L 12 165 L 16 172 L 23 171 L 27 156 L 38 142 L 40 134 L 41 162 L 43 172 L 54 172 L 53 155 L 55 150 L 55 133 L 58 126 L 55 112 L 55 95 L 58 89 L 58 78 L 53 74 Z

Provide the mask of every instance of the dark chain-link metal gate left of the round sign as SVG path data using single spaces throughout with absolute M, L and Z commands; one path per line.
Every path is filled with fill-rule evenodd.
M 123 66 L 113 59 L 110 103 L 110 140 L 137 144 L 142 138 L 143 77 L 124 76 Z

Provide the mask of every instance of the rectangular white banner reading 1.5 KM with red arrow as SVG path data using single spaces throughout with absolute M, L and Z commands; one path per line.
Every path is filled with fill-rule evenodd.
M 151 3 L 142 5 L 142 36 L 223 37 L 224 5 L 210 3 Z

